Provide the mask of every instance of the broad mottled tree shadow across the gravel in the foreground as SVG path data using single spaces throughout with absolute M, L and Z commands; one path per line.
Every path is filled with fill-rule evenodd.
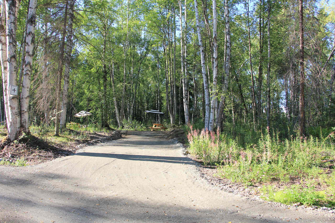
M 281 219 L 273 221 L 262 219 L 257 214 L 248 215 L 236 212 L 237 208 L 189 208 L 175 204 L 173 200 L 166 204 L 163 202 L 157 204 L 155 199 L 151 200 L 151 197 L 138 201 L 122 195 L 115 196 L 113 192 L 108 196 L 92 196 L 91 191 L 95 189 L 94 187 L 80 184 L 64 188 L 62 187 L 63 182 L 50 181 L 50 179 L 68 178 L 62 174 L 52 176 L 49 172 L 40 172 L 27 173 L 17 178 L 9 177 L 9 175 L 3 177 L 8 178 L 8 181 L 13 181 L 13 184 L 4 184 L 5 190 L 0 191 L 0 222 L 282 222 Z M 28 180 L 28 184 L 16 183 L 15 185 L 17 181 L 32 178 L 34 181 Z M 73 182 L 80 178 L 68 180 Z M 40 189 L 42 185 L 44 190 Z M 19 192 L 19 196 L 13 193 L 15 191 Z M 8 204 L 10 204 L 11 211 L 8 210 Z M 258 205 L 261 208 L 262 204 Z

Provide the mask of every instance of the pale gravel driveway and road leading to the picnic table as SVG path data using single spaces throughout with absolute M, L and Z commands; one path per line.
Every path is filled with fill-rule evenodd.
M 36 166 L 0 166 L 0 222 L 333 222 L 216 189 L 162 134 L 130 132 Z

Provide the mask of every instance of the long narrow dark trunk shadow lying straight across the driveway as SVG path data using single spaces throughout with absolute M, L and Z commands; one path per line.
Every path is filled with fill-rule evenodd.
M 188 157 L 174 157 L 174 156 L 147 156 L 147 155 L 130 155 L 130 154 L 115 154 L 115 153 L 76 153 L 75 156 L 93 156 L 93 157 L 106 157 L 124 160 L 139 160 L 139 161 L 153 161 L 153 162 L 166 162 L 166 163 L 181 163 L 196 165 L 194 161 Z

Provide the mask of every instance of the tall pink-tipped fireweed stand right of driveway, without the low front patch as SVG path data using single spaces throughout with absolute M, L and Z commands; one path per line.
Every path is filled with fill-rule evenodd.
M 311 178 L 327 167 L 323 160 L 335 160 L 331 133 L 327 137 L 291 137 L 261 134 L 256 144 L 242 146 L 238 139 L 192 127 L 188 133 L 189 150 L 205 164 L 219 165 L 219 175 L 247 183 L 288 181 Z

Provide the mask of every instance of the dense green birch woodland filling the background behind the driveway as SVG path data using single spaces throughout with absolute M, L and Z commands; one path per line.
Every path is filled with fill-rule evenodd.
M 3 0 L 2 122 L 9 138 L 88 110 L 281 136 L 334 127 L 335 4 L 317 0 Z M 17 85 L 18 96 L 10 95 Z

